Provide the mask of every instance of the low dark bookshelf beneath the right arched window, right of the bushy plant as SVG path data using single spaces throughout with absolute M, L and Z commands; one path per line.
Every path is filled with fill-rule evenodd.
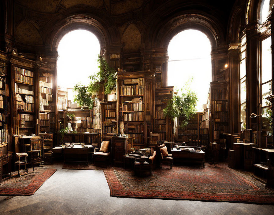
M 183 119 L 183 117 L 178 118 L 177 141 L 198 144 L 198 115 L 194 114 L 185 127 L 181 126 Z

